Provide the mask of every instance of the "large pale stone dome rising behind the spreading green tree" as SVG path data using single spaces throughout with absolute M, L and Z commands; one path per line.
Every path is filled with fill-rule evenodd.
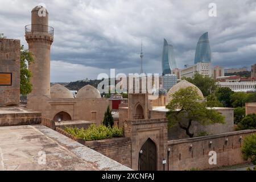
M 184 88 L 187 88 L 189 86 L 192 86 L 193 88 L 196 88 L 197 93 L 199 94 L 199 96 L 202 98 L 202 100 L 204 99 L 203 93 L 201 92 L 201 90 L 196 85 L 191 84 L 191 82 L 188 82 L 187 80 L 181 80 L 179 83 L 172 86 L 172 88 L 167 93 L 166 105 L 169 104 L 169 102 L 172 100 L 172 96 L 171 96 L 172 94 L 174 94 L 179 89 L 184 89 Z

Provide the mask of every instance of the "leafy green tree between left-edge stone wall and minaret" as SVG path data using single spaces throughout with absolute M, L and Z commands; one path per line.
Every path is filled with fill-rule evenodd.
M 23 46 L 20 47 L 20 94 L 26 95 L 32 92 L 32 84 L 30 78 L 31 71 L 28 70 L 27 65 L 34 63 L 33 55 Z

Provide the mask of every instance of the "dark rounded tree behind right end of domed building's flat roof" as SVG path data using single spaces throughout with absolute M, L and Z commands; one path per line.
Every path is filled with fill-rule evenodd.
M 234 92 L 228 87 L 218 87 L 215 95 L 224 107 L 231 107 L 230 99 L 233 93 Z

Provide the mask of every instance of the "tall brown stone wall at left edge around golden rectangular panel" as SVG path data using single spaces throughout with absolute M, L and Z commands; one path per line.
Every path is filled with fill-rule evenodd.
M 11 73 L 11 85 L 0 85 L 0 106 L 19 104 L 20 40 L 0 39 L 0 73 Z

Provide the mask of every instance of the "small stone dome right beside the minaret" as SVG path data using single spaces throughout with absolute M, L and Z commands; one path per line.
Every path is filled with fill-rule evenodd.
M 74 98 L 73 94 L 65 86 L 56 84 L 51 86 L 51 99 L 55 98 Z

